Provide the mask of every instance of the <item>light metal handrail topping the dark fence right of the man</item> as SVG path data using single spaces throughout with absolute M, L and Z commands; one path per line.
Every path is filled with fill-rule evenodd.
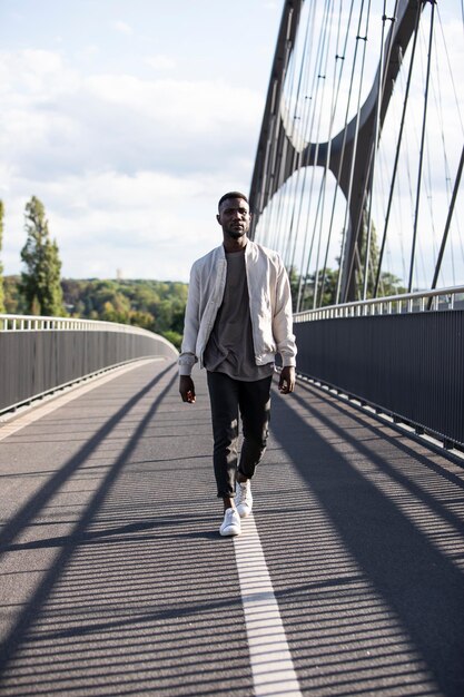
M 376 297 L 367 301 L 327 305 L 315 310 L 304 310 L 294 314 L 294 322 L 312 322 L 315 320 L 336 320 L 342 317 L 366 317 L 373 315 L 393 315 L 413 312 L 433 312 L 464 307 L 464 286 L 419 291 Z

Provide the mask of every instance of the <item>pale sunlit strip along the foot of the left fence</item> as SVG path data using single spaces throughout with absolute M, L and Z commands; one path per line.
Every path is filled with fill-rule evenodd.
M 60 396 L 56 396 L 56 394 L 50 395 L 49 397 L 45 397 L 43 401 L 47 401 L 46 404 L 41 406 L 36 406 L 31 404 L 31 406 L 26 408 L 26 413 L 21 416 L 18 416 L 17 413 L 13 415 L 13 420 L 11 422 L 1 422 L 0 421 L 0 441 L 4 441 L 6 438 L 17 433 L 21 429 L 30 425 L 34 421 L 42 419 L 42 416 L 47 416 L 47 414 L 51 414 L 56 409 L 68 404 L 68 402 L 72 402 L 72 400 L 77 400 L 82 394 L 87 394 L 91 390 L 103 385 L 115 377 L 119 377 L 124 373 L 128 373 L 136 367 L 140 367 L 140 365 L 145 365 L 146 363 L 151 363 L 152 361 L 159 361 L 161 359 L 146 359 L 141 361 L 135 361 L 134 363 L 128 363 L 126 365 L 121 365 L 120 367 L 116 367 L 109 373 L 105 373 L 105 375 L 96 375 L 95 377 L 90 377 L 89 381 L 85 385 L 76 386 L 71 385 L 66 389 L 66 394 Z

